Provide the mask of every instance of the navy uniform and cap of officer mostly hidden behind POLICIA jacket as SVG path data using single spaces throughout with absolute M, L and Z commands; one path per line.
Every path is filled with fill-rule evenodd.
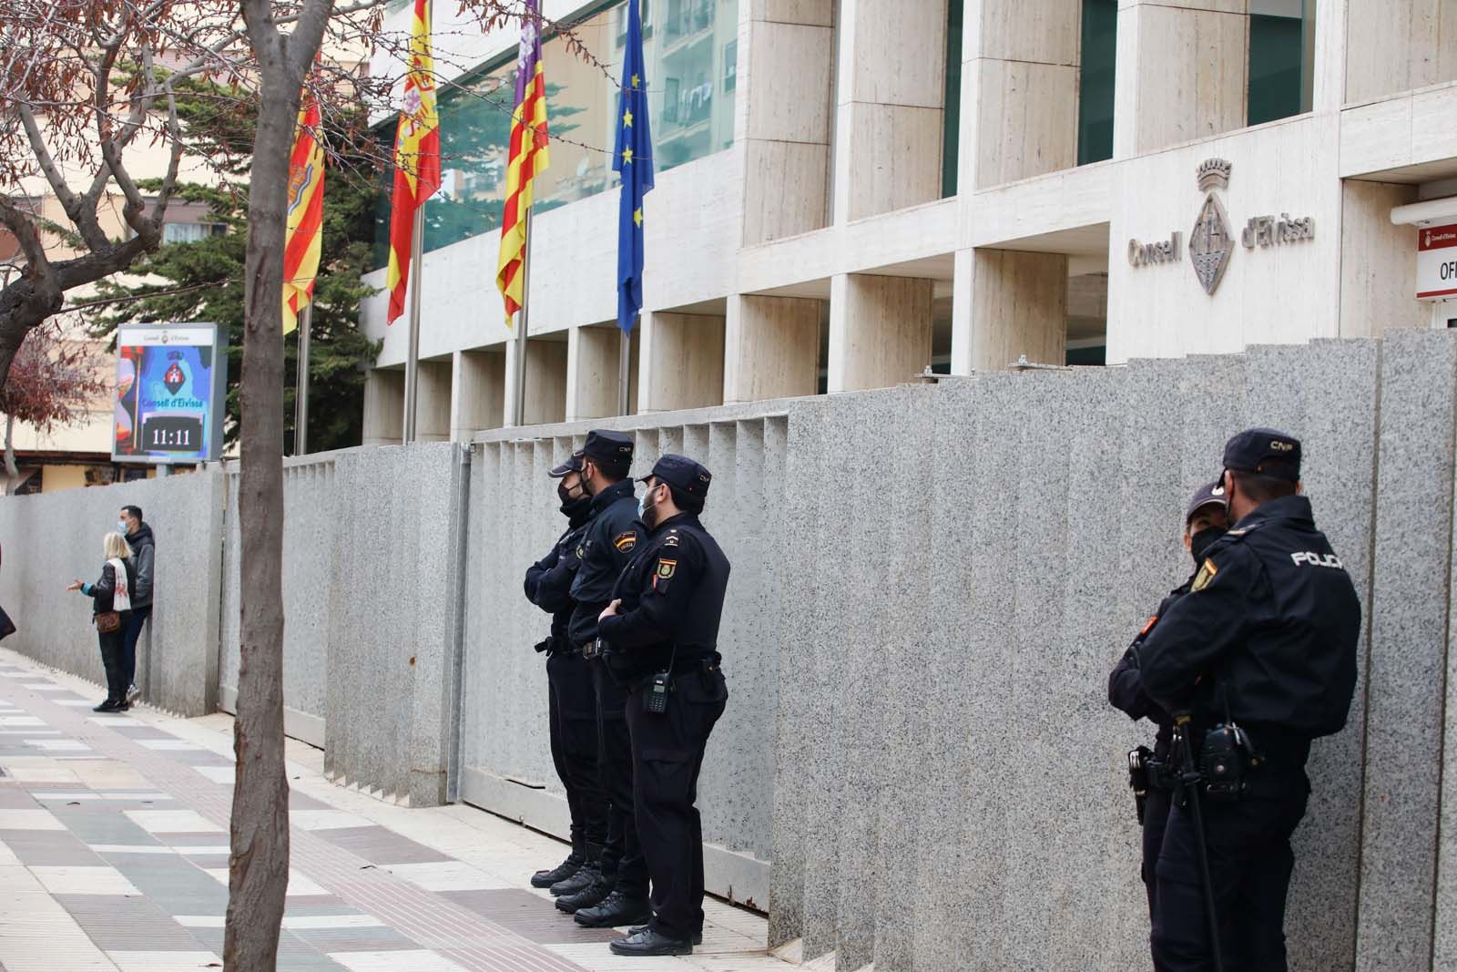
M 1199 510 L 1218 506 L 1224 509 L 1224 487 L 1218 482 L 1209 482 L 1199 488 L 1189 501 L 1185 510 L 1185 525 L 1187 526 L 1193 520 L 1193 514 Z M 1224 536 L 1225 529 L 1222 526 L 1211 526 L 1199 533 L 1193 535 L 1192 552 L 1195 557 L 1195 567 L 1203 560 L 1206 549 Z M 1169 748 L 1173 740 L 1173 718 L 1164 708 L 1148 697 L 1144 689 L 1144 679 L 1138 670 L 1135 659 L 1138 656 L 1139 647 L 1148 638 L 1148 634 L 1158 624 L 1158 619 L 1169 614 L 1169 609 L 1176 600 L 1189 593 L 1189 586 L 1193 583 L 1193 574 L 1185 583 L 1179 584 L 1169 592 L 1169 596 L 1158 603 L 1158 611 L 1152 614 L 1144 628 L 1134 638 L 1134 643 L 1128 646 L 1123 657 L 1119 659 L 1118 665 L 1113 667 L 1113 673 L 1107 678 L 1107 701 L 1118 710 L 1128 714 L 1129 718 L 1138 721 L 1147 718 L 1157 726 L 1154 733 L 1154 749 L 1148 753 L 1155 764 L 1169 765 Z M 1157 908 L 1157 874 L 1155 864 L 1158 863 L 1158 851 L 1164 844 L 1164 826 L 1169 823 L 1169 807 L 1173 800 L 1173 791 L 1167 785 L 1160 774 L 1158 780 L 1154 780 L 1148 785 L 1148 791 L 1144 796 L 1142 806 L 1139 807 L 1139 823 L 1142 826 L 1142 860 L 1139 864 L 1139 874 L 1144 879 L 1144 890 L 1148 896 L 1148 917 L 1154 918 Z

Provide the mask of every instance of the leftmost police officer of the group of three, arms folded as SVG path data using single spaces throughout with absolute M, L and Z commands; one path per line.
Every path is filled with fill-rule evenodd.
M 551 635 L 536 646 L 546 653 L 548 724 L 551 756 L 567 791 L 571 813 L 571 854 L 551 870 L 532 874 L 533 887 L 551 887 L 576 874 L 587 860 L 600 860 L 608 831 L 608 799 L 597 780 L 597 697 L 592 670 L 581 650 L 567 637 L 571 619 L 571 581 L 577 576 L 577 548 L 587 528 L 592 497 L 581 484 L 581 456 L 552 469 L 567 530 L 546 557 L 526 568 L 526 599 L 551 612 Z

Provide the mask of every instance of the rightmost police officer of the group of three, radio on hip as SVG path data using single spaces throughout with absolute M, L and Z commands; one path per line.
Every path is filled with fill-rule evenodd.
M 612 941 L 618 955 L 689 955 L 702 941 L 704 832 L 694 800 L 728 701 L 717 651 L 728 558 L 698 522 L 711 481 L 675 455 L 644 477 L 648 535 L 599 621 L 608 663 L 628 685 L 638 835 L 653 877 L 653 918 Z

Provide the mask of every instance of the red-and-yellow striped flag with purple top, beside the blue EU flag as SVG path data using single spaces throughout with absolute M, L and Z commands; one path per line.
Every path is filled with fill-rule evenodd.
M 551 165 L 546 147 L 546 74 L 542 70 L 541 0 L 526 0 L 522 44 L 516 55 L 516 109 L 506 165 L 506 210 L 501 214 L 501 255 L 495 286 L 506 300 L 506 326 L 522 309 L 526 270 L 526 211 L 532 208 L 532 179 Z

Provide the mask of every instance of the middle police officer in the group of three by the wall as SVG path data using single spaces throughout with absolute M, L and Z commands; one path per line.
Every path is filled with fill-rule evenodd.
M 594 430 L 581 447 L 581 481 L 592 494 L 592 519 L 571 581 L 576 602 L 568 622 L 571 643 L 583 648 L 597 698 L 597 778 L 608 797 L 608 838 L 596 870 L 587 866 L 564 883 L 552 885 L 557 908 L 589 928 L 610 928 L 650 917 L 647 866 L 632 820 L 632 750 L 624 721 L 627 691 L 603 669 L 597 644 L 597 615 L 612 600 L 612 587 L 641 539 L 637 498 L 628 474 L 632 439 Z

